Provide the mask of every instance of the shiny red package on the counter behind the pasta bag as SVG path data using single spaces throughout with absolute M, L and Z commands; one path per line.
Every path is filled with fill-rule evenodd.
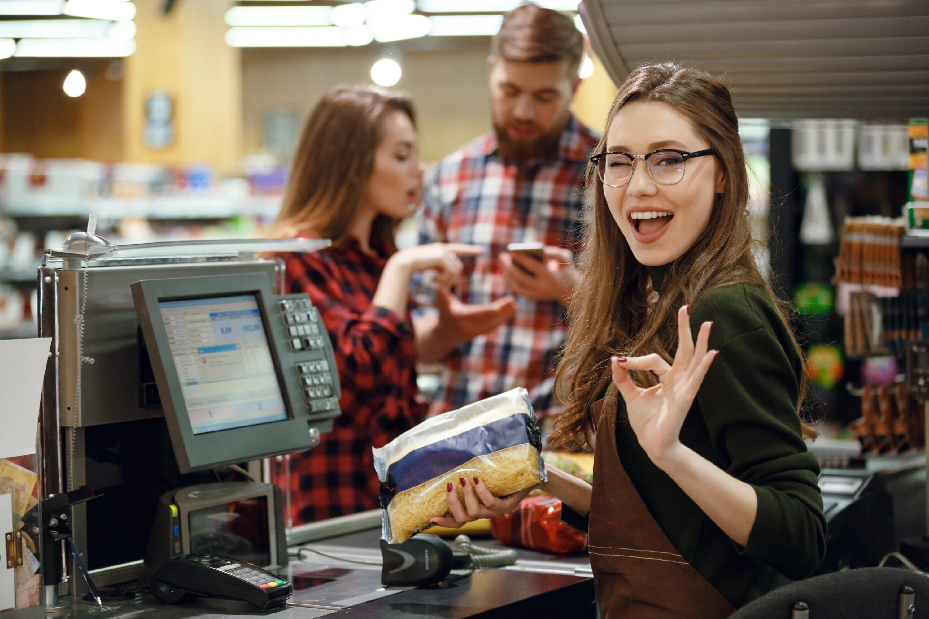
M 509 514 L 491 518 L 491 534 L 506 546 L 543 552 L 587 549 L 587 534 L 561 522 L 561 501 L 555 496 L 527 496 Z

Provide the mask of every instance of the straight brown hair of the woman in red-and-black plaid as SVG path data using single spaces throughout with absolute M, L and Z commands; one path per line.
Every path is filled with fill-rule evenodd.
M 273 226 L 276 237 L 307 234 L 337 245 L 364 199 L 374 169 L 374 151 L 387 115 L 399 111 L 415 125 L 412 100 L 369 86 L 336 86 L 310 112 Z M 379 214 L 372 239 L 394 249 L 399 222 Z

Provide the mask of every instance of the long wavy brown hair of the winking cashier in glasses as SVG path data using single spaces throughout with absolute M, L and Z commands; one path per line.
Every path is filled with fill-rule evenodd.
M 672 62 L 639 67 L 629 74 L 613 101 L 607 128 L 622 106 L 634 100 L 661 101 L 687 116 L 716 151 L 726 187 L 716 197 L 706 230 L 674 261 L 661 294 L 656 295 L 648 270 L 635 260 L 609 212 L 594 165 L 588 165 L 580 284 L 570 305 L 569 335 L 556 373 L 556 397 L 566 409 L 548 439 L 550 448 L 591 447 L 596 429 L 590 408 L 608 387 L 614 389 L 609 357 L 656 353 L 670 362 L 677 346 L 677 310 L 693 303 L 699 293 L 733 284 L 764 287 L 787 324 L 787 307 L 762 277 L 752 255 L 754 241 L 746 208 L 748 174 L 739 119 L 726 84 L 709 73 Z M 606 144 L 604 134 L 595 152 L 603 152 Z M 793 335 L 791 338 L 803 358 Z M 636 372 L 634 378 L 645 386 L 657 382 L 650 372 Z M 804 375 L 798 415 L 805 391 Z M 817 432 L 803 424 L 803 435 L 812 438 Z

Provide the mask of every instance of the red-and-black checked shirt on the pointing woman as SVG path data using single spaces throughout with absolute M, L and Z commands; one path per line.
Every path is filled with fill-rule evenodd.
M 333 342 L 342 415 L 320 445 L 290 458 L 290 475 L 275 484 L 292 495 L 294 524 L 379 505 L 372 447 L 381 447 L 425 418 L 416 400 L 416 347 L 409 313 L 371 303 L 386 264 L 349 238 L 322 251 L 284 256 L 287 291 L 306 292 Z

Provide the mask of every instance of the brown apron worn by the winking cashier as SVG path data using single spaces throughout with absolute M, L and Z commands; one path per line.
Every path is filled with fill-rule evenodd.
M 622 468 L 616 397 L 592 407 L 597 419 L 590 563 L 603 619 L 721 619 L 736 609 L 677 552 Z

